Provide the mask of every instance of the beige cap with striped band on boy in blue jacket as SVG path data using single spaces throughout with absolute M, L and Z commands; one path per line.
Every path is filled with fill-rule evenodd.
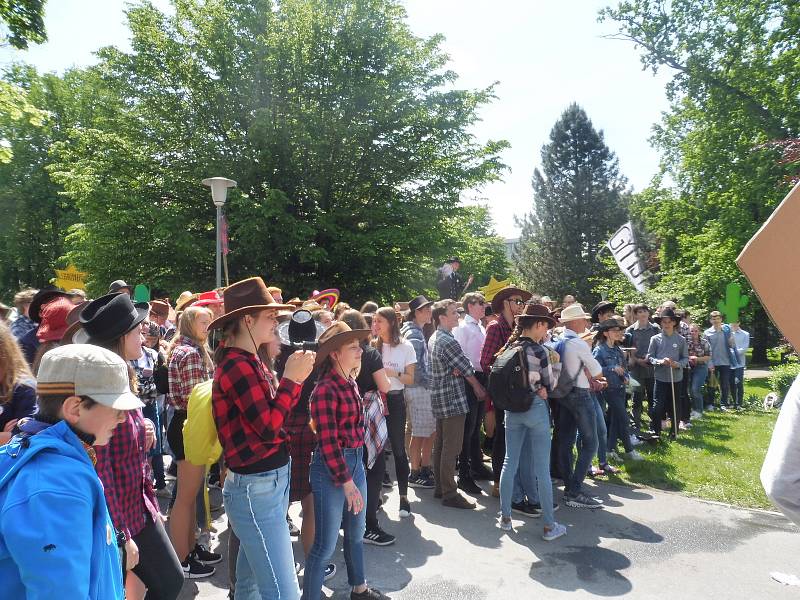
M 40 396 L 88 396 L 118 410 L 144 406 L 131 392 L 128 364 L 100 346 L 70 344 L 50 350 L 42 357 L 36 379 Z

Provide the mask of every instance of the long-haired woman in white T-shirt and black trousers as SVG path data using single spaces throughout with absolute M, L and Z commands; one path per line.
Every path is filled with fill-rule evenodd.
M 381 353 L 383 369 L 389 376 L 389 393 L 386 402 L 389 414 L 386 425 L 394 456 L 397 489 L 400 493 L 400 516 L 411 516 L 408 503 L 408 455 L 406 454 L 406 401 L 403 390 L 414 384 L 417 353 L 411 342 L 400 337 L 400 325 L 395 310 L 389 306 L 378 309 L 372 321 L 376 338 L 372 345 Z

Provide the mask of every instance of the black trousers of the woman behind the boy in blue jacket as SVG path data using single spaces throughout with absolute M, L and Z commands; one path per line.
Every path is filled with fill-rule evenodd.
M 145 600 L 175 600 L 183 586 L 183 568 L 164 525 L 147 515 L 144 529 L 133 541 L 139 548 L 139 564 L 133 572 L 147 587 Z

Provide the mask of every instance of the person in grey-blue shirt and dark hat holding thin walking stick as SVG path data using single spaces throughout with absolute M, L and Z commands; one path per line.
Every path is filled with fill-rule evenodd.
M 681 319 L 671 308 L 661 311 L 656 320 L 661 325 L 661 333 L 650 340 L 647 361 L 655 366 L 655 387 L 653 389 L 653 431 L 661 434 L 661 422 L 672 403 L 672 438 L 678 435 L 678 415 L 676 410 L 676 384 L 683 380 L 683 370 L 689 365 L 689 350 L 686 339 L 677 332 Z

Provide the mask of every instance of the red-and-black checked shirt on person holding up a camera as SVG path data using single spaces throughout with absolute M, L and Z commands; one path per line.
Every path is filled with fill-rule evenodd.
M 214 420 L 225 462 L 234 471 L 286 449 L 283 424 L 302 386 L 284 377 L 276 391 L 273 381 L 254 354 L 239 348 L 228 348 L 217 365 L 211 396 Z

